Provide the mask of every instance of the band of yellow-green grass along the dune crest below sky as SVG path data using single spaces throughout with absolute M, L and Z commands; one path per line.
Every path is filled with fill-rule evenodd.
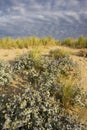
M 24 38 L 15 38 L 10 37 L 0 39 L 0 48 L 1 49 L 12 49 L 12 48 L 29 48 L 30 46 L 54 46 L 62 45 L 72 48 L 87 48 L 87 37 L 79 36 L 78 38 L 66 38 L 64 40 L 55 40 L 53 37 L 43 37 L 38 38 L 33 37 L 24 37 Z

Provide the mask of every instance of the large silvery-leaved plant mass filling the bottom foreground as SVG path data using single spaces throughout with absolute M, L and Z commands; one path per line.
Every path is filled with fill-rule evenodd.
M 1 130 L 86 130 L 87 126 L 78 122 L 61 108 L 58 101 L 50 96 L 45 87 L 41 91 L 28 87 L 22 95 L 1 103 Z M 2 114 L 3 113 L 3 114 Z

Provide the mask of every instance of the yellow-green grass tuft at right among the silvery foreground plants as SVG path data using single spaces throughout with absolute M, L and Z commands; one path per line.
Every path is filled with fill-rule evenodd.
M 67 79 L 62 77 L 61 82 L 63 82 L 63 84 L 57 94 L 61 97 L 63 107 L 69 109 L 77 103 L 77 97 L 79 97 L 81 91 L 78 87 L 77 81 L 73 78 Z

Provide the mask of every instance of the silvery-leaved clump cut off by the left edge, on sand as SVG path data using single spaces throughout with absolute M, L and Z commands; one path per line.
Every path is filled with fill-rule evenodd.
M 4 86 L 12 81 L 12 69 L 9 63 L 0 61 L 0 85 Z

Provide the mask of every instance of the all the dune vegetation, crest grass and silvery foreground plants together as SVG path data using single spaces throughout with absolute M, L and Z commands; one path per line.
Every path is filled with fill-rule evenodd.
M 43 46 L 43 48 L 41 47 Z M 12 60 L 0 60 L 0 130 L 86 130 L 87 91 L 78 64 L 60 48 L 87 49 L 87 38 L 3 38 L 0 49 L 33 49 Z M 82 54 L 82 53 L 81 53 Z M 83 55 L 86 58 L 86 54 Z M 80 113 L 80 114 L 79 114 Z

